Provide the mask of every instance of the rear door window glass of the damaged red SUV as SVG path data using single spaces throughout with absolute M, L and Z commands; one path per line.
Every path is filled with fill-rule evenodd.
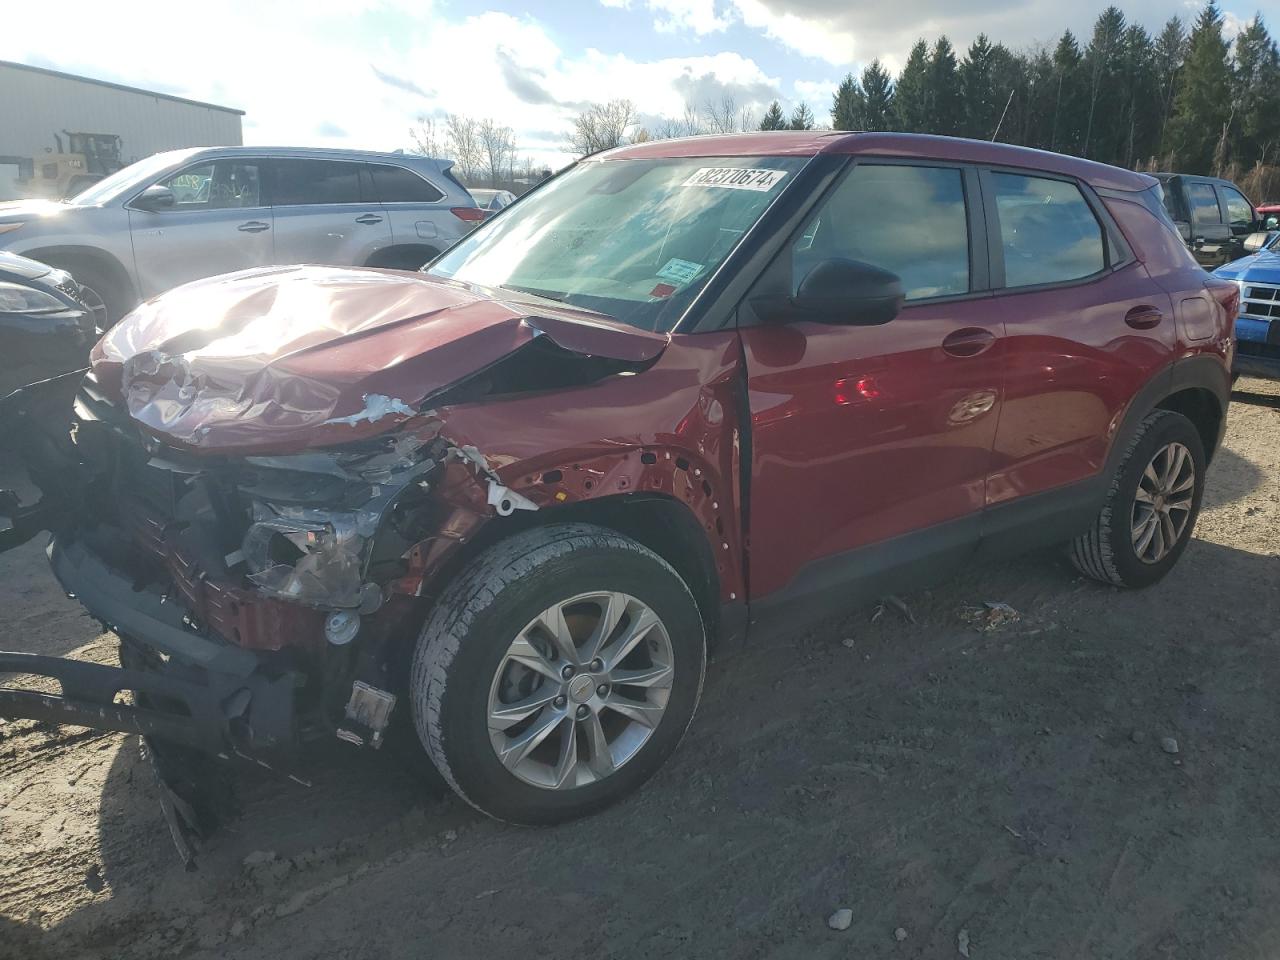
M 1102 224 L 1066 180 L 995 173 L 1005 285 L 1068 283 L 1106 268 Z

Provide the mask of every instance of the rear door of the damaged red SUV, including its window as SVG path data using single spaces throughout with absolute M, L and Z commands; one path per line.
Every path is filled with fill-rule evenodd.
M 1007 348 L 987 503 L 1069 499 L 1102 470 L 1129 399 L 1172 358 L 1172 305 L 1087 187 L 1012 170 L 984 172 L 983 187 Z

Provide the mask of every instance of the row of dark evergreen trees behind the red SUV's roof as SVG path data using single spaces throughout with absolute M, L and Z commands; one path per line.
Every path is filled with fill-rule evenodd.
M 800 125 L 791 120 L 774 104 L 760 128 Z M 831 123 L 1239 179 L 1280 157 L 1280 52 L 1261 14 L 1224 38 L 1213 0 L 1190 33 L 1172 17 L 1156 36 L 1110 6 L 1083 47 L 1070 31 L 1051 50 L 1025 52 L 979 35 L 963 56 L 945 36 L 932 47 L 920 40 L 896 79 L 878 60 L 846 76 Z

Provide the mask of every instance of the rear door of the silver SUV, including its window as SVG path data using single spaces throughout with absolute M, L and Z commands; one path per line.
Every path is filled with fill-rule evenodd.
M 270 163 L 275 262 L 364 266 L 392 243 L 392 225 L 358 160 Z

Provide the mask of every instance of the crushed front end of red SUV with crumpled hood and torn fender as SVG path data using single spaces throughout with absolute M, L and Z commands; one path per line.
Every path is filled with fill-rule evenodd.
M 288 268 L 143 305 L 92 362 L 69 431 L 65 383 L 6 402 L 45 499 L 0 517 L 9 545 L 52 530 L 125 669 L 0 654 L 63 686 L 6 689 L 3 716 L 269 764 L 316 736 L 376 748 L 443 579 L 547 511 L 681 504 L 708 605 L 744 595 L 731 333 L 672 346 L 452 282 Z

